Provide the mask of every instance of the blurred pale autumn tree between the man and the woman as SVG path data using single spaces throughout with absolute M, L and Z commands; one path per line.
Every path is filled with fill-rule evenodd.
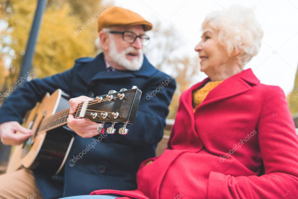
M 147 34 L 150 37 L 150 45 L 145 47 L 144 51 L 156 68 L 175 77 L 177 88 L 167 117 L 174 119 L 182 92 L 198 82 L 200 76 L 199 58 L 198 55 L 190 57 L 181 53 L 181 49 L 185 47 L 185 38 L 172 28 L 174 25 L 164 27 L 162 23 L 156 24 L 153 30 Z

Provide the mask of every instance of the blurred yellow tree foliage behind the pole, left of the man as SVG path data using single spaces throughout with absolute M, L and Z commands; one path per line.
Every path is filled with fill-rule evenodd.
M 96 4 L 100 1 L 94 1 Z M 49 1 L 44 12 L 41 27 L 35 46 L 35 54 L 32 60 L 32 68 L 37 71 L 34 77 L 45 77 L 62 72 L 73 66 L 74 60 L 79 57 L 96 55 L 94 45 L 97 36 L 96 23 L 90 23 L 82 33 L 73 34 L 77 29 L 86 23 L 86 18 L 82 20 L 82 10 L 78 10 L 79 4 L 84 1 L 76 1 L 76 13 L 71 1 Z M 95 4 L 94 3 L 94 4 Z M 16 58 L 12 62 L 14 80 L 16 80 L 24 50 L 27 45 L 32 21 L 37 6 L 35 0 L 11 0 L 10 12 L 7 13 L 8 24 L 13 28 L 10 33 L 12 43 L 10 47 L 14 49 Z M 94 9 L 94 6 L 90 10 Z M 85 11 L 87 6 L 85 5 Z M 90 16 L 92 13 L 86 14 Z M 85 26 L 84 26 L 85 27 Z

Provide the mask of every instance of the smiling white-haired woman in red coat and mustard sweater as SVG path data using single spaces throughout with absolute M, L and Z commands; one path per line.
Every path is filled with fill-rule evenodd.
M 284 92 L 243 69 L 260 49 L 260 25 L 234 6 L 207 15 L 202 29 L 195 51 L 208 78 L 181 95 L 168 148 L 140 165 L 137 190 L 92 194 L 297 198 L 298 140 Z

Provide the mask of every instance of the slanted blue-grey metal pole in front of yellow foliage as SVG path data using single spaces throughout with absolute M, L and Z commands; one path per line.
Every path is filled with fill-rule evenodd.
M 32 27 L 30 30 L 30 35 L 26 46 L 25 55 L 22 60 L 19 77 L 25 77 L 25 74 L 27 74 L 27 72 L 30 71 L 31 69 L 32 57 L 35 50 L 35 45 L 36 45 L 40 24 L 41 24 L 42 15 L 46 7 L 46 2 L 47 0 L 38 0 L 37 2 L 37 7 L 35 10 L 35 15 L 32 22 Z

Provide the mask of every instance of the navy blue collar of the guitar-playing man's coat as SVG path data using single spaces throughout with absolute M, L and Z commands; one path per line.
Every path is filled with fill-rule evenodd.
M 77 74 L 86 82 L 106 79 L 124 79 L 137 76 L 150 77 L 157 69 L 154 68 L 144 55 L 144 61 L 138 71 L 106 71 L 103 53 L 97 55 L 93 60 L 85 62 L 86 66 L 78 69 Z

